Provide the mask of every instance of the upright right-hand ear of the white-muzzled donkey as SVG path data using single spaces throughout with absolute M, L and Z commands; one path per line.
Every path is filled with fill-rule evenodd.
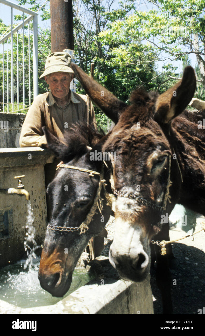
M 158 123 L 169 123 L 184 111 L 192 100 L 196 89 L 196 76 L 190 66 L 184 69 L 182 79 L 162 93 L 155 103 L 154 119 Z

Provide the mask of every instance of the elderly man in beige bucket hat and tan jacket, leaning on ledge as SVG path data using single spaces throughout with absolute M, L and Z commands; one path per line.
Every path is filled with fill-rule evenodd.
M 87 121 L 87 96 L 70 90 L 74 76 L 70 65 L 71 57 L 66 52 L 53 52 L 47 57 L 45 71 L 40 78 L 45 78 L 51 91 L 34 99 L 21 129 L 20 147 L 47 147 L 42 126 L 63 139 L 63 131 L 71 123 Z M 96 127 L 92 103 L 89 122 Z

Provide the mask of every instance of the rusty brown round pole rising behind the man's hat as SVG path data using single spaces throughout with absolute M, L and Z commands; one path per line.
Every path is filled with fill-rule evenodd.
M 50 0 L 51 52 L 74 50 L 72 0 Z

